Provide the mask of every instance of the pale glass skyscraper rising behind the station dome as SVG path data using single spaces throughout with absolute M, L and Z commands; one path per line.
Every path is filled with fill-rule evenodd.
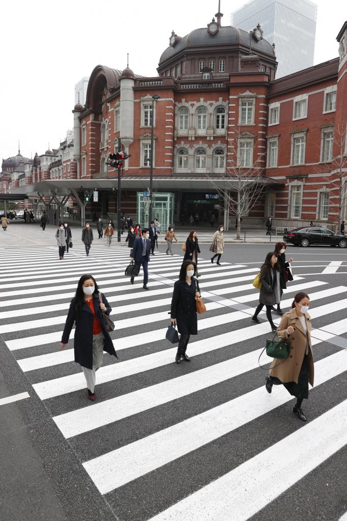
M 231 24 L 275 43 L 276 78 L 313 65 L 317 5 L 309 0 L 251 0 L 231 14 Z

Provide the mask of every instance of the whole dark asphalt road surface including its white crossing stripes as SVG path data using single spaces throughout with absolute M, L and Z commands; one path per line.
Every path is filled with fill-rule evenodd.
M 87 259 L 76 242 L 59 261 L 54 246 L 6 249 L 0 238 L 1 520 L 338 521 L 347 511 L 347 250 L 287 249 L 294 281 L 282 307 L 306 291 L 314 329 L 303 424 L 285 389 L 268 395 L 257 364 L 270 328 L 265 314 L 261 325 L 251 321 L 252 280 L 268 244 L 228 245 L 222 266 L 202 245 L 208 311 L 188 346 L 191 362 L 177 365 L 165 330 L 179 244 L 174 257 L 159 246 L 144 292 L 141 277 L 131 286 L 123 276 L 123 245 L 96 240 Z M 95 403 L 73 340 L 59 349 L 84 272 L 113 307 L 120 357 L 104 354 Z

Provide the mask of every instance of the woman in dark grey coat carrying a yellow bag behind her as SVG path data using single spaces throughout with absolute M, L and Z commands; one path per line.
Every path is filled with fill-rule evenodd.
M 270 322 L 272 331 L 276 331 L 277 327 L 272 321 L 271 309 L 274 304 L 281 302 L 281 288 L 280 288 L 280 271 L 277 263 L 277 255 L 274 252 L 269 252 L 266 255 L 265 262 L 261 267 L 260 281 L 262 287 L 259 294 L 259 305 L 255 310 L 252 320 L 260 324 L 258 319 L 259 313 L 263 307 L 266 306 L 266 316 Z

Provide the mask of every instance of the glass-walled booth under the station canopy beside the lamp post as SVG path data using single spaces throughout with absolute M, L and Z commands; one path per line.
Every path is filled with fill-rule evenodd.
M 147 199 L 147 200 L 146 200 Z M 175 209 L 175 194 L 153 194 L 153 219 L 160 222 L 160 230 L 167 230 L 173 224 L 173 210 Z M 138 192 L 138 222 L 141 226 L 149 226 L 148 213 L 150 211 L 149 197 Z

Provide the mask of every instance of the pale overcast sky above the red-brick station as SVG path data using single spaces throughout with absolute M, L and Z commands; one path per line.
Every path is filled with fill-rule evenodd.
M 221 0 L 222 24 L 244 3 Z M 315 3 L 317 64 L 338 56 L 347 8 L 345 0 Z M 27 157 L 48 142 L 58 147 L 73 127 L 75 83 L 96 65 L 122 70 L 129 53 L 135 73 L 157 76 L 171 31 L 206 27 L 217 10 L 217 0 L 1 1 L 0 159 L 17 154 L 18 140 Z

